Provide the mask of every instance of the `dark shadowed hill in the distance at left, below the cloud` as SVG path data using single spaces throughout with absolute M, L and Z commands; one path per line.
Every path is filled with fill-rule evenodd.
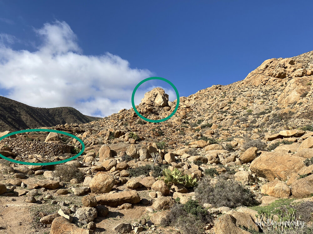
M 84 124 L 100 119 L 72 107 L 39 108 L 0 96 L 0 131 L 17 131 L 58 124 Z

